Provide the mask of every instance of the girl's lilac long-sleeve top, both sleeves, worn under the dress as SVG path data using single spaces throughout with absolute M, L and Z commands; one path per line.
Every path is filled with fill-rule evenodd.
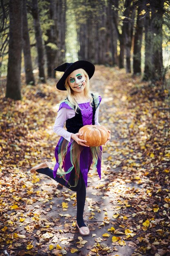
M 57 133 L 57 135 L 64 137 L 64 139 L 68 140 L 69 142 L 73 142 L 73 139 L 71 139 L 72 132 L 68 132 L 67 130 L 65 130 L 64 124 L 68 118 L 72 118 L 74 116 L 75 116 L 75 110 L 69 109 L 69 108 L 60 108 L 60 110 L 58 110 L 57 117 L 55 119 L 55 123 L 53 126 L 53 131 Z M 95 111 L 95 125 L 100 125 L 98 122 L 98 117 L 99 117 L 99 106 Z

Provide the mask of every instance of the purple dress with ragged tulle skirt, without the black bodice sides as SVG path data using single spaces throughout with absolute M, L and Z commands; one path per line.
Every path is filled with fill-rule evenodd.
M 95 106 L 98 107 L 101 97 L 95 99 Z M 60 108 L 72 108 L 68 101 L 63 101 Z M 59 110 L 60 110 L 59 108 Z M 79 104 L 82 113 L 83 126 L 91 125 L 93 118 L 93 109 L 89 102 Z M 87 187 L 88 171 L 93 166 L 97 169 L 101 179 L 101 159 L 102 146 L 86 147 L 78 145 L 77 142 L 69 142 L 63 137 L 60 138 L 55 148 L 56 164 L 53 170 L 54 178 L 62 177 L 70 186 L 76 186 L 79 179 L 80 171 Z

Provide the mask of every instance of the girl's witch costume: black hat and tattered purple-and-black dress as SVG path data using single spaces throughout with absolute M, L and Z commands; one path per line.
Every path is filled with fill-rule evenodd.
M 65 80 L 67 76 L 79 68 L 84 69 L 88 73 L 89 79 L 95 71 L 95 66 L 89 61 L 64 63 L 55 69 L 56 71 L 64 71 L 64 75 L 56 85 L 57 89 L 66 90 Z M 75 116 L 66 120 L 66 129 L 68 132 L 77 133 L 82 126 L 95 124 L 95 112 L 99 107 L 101 97 L 97 94 L 91 94 L 91 96 L 93 97 L 92 106 L 90 102 L 78 104 L 79 108 L 77 109 L 77 113 L 75 112 Z M 65 108 L 66 111 L 68 109 L 75 110 L 75 106 L 71 105 L 68 98 L 60 103 L 58 111 L 62 108 Z M 97 173 L 101 179 L 101 158 L 102 146 L 81 146 L 74 140 L 68 141 L 64 137 L 61 137 L 55 148 L 56 164 L 53 170 L 53 176 L 54 178 L 62 177 L 66 181 L 66 184 L 75 187 L 77 186 L 81 172 L 87 187 L 87 175 L 91 165 L 93 169 L 97 168 Z

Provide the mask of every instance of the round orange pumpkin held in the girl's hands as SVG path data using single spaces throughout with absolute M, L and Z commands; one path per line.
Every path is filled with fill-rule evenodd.
M 92 147 L 104 145 L 110 135 L 104 126 L 97 125 L 85 125 L 79 132 L 82 134 L 79 138 L 86 140 L 85 144 Z

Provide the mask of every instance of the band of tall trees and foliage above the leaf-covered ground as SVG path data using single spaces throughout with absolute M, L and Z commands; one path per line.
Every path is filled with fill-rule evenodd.
M 170 6 L 164 0 L 1 1 L 0 74 L 6 97 L 55 77 L 54 67 L 78 59 L 126 67 L 165 87 L 170 65 Z M 21 40 L 22 38 L 22 40 Z M 164 88 L 165 89 L 165 88 Z

